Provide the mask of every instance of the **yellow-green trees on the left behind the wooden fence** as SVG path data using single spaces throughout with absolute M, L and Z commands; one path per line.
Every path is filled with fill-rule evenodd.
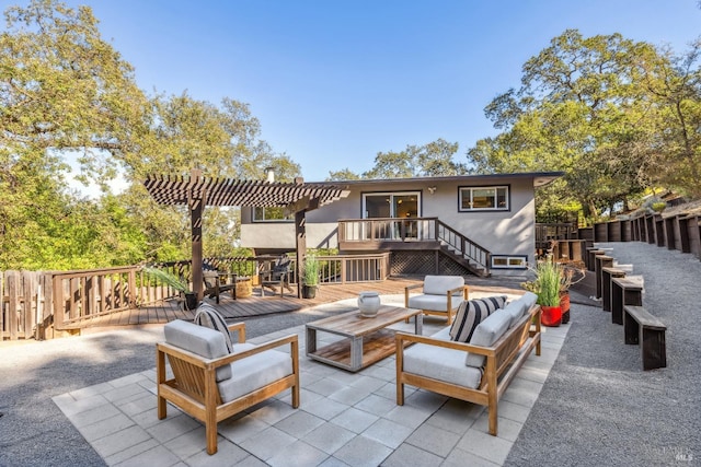
M 300 167 L 260 138 L 248 105 L 186 93 L 149 96 L 102 39 L 89 7 L 54 0 L 11 7 L 0 34 L 0 269 L 71 269 L 189 256 L 187 212 L 159 207 L 148 174 L 263 178 Z M 68 176 L 103 188 L 97 200 Z M 108 187 L 122 176 L 128 188 Z M 205 254 L 228 256 L 235 209 L 205 211 Z

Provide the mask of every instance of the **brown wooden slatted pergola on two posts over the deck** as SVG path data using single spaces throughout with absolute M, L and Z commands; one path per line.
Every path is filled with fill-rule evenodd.
M 284 207 L 295 213 L 297 252 L 297 277 L 301 278 L 303 258 L 307 253 L 304 232 L 306 212 L 348 196 L 344 186 L 303 183 L 276 183 L 269 180 L 242 180 L 209 178 L 202 171 L 191 171 L 189 177 L 173 175 L 149 175 L 143 182 L 146 189 L 159 205 L 187 206 L 192 225 L 192 275 L 197 297 L 203 297 L 202 215 L 206 206 Z M 300 282 L 298 280 L 298 282 Z M 298 283 L 297 294 L 301 296 Z

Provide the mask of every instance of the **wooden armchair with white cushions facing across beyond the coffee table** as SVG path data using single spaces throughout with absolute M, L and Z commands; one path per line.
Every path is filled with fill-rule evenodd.
M 422 294 L 410 295 L 411 290 L 420 288 Z M 426 276 L 423 284 L 404 289 L 404 306 L 422 310 L 425 315 L 446 316 L 450 325 L 460 304 L 468 300 L 468 293 L 462 276 Z

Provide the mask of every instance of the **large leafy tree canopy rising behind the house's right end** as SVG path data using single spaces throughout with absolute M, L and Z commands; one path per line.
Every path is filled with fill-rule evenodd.
M 698 43 L 675 57 L 620 34 L 565 31 L 524 65 L 519 89 L 486 106 L 503 131 L 468 162 L 479 173 L 564 171 L 542 198 L 594 218 L 651 186 L 699 196 L 698 55 Z

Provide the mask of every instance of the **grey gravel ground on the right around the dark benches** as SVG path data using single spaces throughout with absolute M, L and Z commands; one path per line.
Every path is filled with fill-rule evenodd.
M 604 243 L 645 280 L 643 305 L 667 326 L 667 367 L 599 307 L 574 305 L 560 357 L 507 466 L 701 464 L 701 261 L 646 243 Z

